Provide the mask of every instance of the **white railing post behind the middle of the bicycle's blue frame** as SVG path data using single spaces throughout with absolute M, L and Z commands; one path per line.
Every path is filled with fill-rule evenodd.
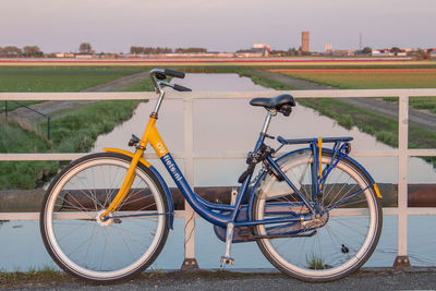
M 194 121 L 193 100 L 183 98 L 184 120 L 184 174 L 187 182 L 194 186 Z M 195 213 L 191 205 L 184 202 L 184 260 L 182 269 L 198 268 L 195 259 Z

